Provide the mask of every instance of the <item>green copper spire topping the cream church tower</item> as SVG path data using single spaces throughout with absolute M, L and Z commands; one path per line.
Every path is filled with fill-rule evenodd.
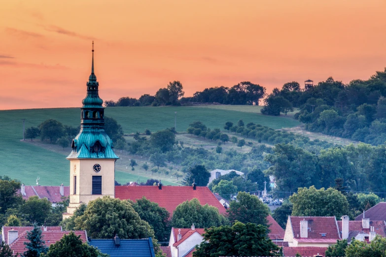
M 112 140 L 105 132 L 105 108 L 99 97 L 97 76 L 94 74 L 94 41 L 91 75 L 87 96 L 82 100 L 80 132 L 72 140 L 72 152 L 67 159 L 118 159 L 112 151 Z

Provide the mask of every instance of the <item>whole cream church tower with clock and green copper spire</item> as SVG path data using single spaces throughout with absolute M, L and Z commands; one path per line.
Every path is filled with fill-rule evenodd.
M 103 100 L 99 97 L 94 74 L 94 42 L 91 75 L 87 96 L 80 108 L 80 132 L 72 140 L 70 160 L 70 205 L 63 219 L 72 216 L 80 203 L 88 203 L 104 195 L 115 195 L 115 161 L 112 140 L 105 132 Z

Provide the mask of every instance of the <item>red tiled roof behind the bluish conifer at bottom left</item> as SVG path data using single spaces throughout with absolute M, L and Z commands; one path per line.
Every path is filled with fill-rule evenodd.
M 42 239 L 45 241 L 46 246 L 50 246 L 55 244 L 57 241 L 62 239 L 63 235 L 69 234 L 71 231 L 42 231 Z M 87 242 L 86 231 L 73 231 L 75 235 L 79 236 L 83 242 Z M 27 231 L 24 231 L 19 237 L 9 246 L 9 248 L 13 251 L 13 255 L 15 256 L 17 253 L 23 254 L 27 249 L 24 245 L 25 242 L 28 242 Z

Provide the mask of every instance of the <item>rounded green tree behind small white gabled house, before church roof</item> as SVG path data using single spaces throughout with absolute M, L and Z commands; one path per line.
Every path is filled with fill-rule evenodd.
M 189 228 L 192 224 L 196 227 L 206 228 L 211 226 L 227 225 L 228 220 L 218 212 L 216 207 L 208 204 L 201 205 L 197 198 L 179 204 L 172 217 L 172 226 Z

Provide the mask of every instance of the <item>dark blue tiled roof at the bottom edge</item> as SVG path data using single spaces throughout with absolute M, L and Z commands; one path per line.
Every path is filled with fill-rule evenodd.
M 110 257 L 155 257 L 151 237 L 121 239 L 119 246 L 115 245 L 114 239 L 90 239 L 88 243 Z

